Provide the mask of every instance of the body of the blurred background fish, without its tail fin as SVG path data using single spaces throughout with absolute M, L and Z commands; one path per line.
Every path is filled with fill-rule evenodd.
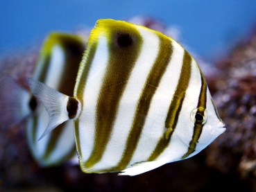
M 33 78 L 72 96 L 83 51 L 85 41 L 78 35 L 51 33 L 42 46 Z M 56 130 L 37 142 L 47 126 L 49 116 L 34 96 L 29 104 L 35 115 L 28 118 L 26 134 L 28 146 L 37 162 L 41 166 L 53 166 L 72 157 L 77 158 L 74 123 L 67 121 L 58 125 Z

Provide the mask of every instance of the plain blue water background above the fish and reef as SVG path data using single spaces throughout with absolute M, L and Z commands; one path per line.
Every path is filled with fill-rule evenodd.
M 0 2 L 0 53 L 23 49 L 53 30 L 74 31 L 81 26 L 92 28 L 101 18 L 123 20 L 146 15 L 177 26 L 182 43 L 205 58 L 213 58 L 248 33 L 256 19 L 253 0 Z

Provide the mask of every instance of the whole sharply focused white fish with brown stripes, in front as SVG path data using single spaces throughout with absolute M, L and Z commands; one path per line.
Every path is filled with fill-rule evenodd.
M 50 116 L 41 138 L 74 121 L 85 173 L 138 175 L 196 155 L 225 131 L 194 58 L 170 37 L 126 21 L 96 22 L 74 97 L 28 83 Z

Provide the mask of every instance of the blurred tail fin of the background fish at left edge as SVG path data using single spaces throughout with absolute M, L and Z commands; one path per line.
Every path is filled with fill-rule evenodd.
M 20 123 L 33 112 L 28 105 L 30 92 L 14 78 L 1 74 L 0 90 L 1 128 Z

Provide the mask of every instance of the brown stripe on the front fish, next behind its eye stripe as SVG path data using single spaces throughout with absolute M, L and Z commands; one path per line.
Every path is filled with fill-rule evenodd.
M 173 73 L 174 72 L 175 71 L 173 71 Z M 161 155 L 161 153 L 165 148 L 167 148 L 169 142 L 171 141 L 171 135 L 173 134 L 173 131 L 175 130 L 178 123 L 178 117 L 180 115 L 182 103 L 185 98 L 187 87 L 189 85 L 190 76 L 191 55 L 185 51 L 178 85 L 176 87 L 175 94 L 173 95 L 173 99 L 167 113 L 167 118 L 165 120 L 165 128 L 167 128 L 167 130 L 164 132 L 163 137 L 161 137 L 158 141 L 157 146 L 155 147 L 155 150 L 153 150 L 151 156 L 148 157 L 148 161 L 153 161 L 159 157 L 159 155 Z

